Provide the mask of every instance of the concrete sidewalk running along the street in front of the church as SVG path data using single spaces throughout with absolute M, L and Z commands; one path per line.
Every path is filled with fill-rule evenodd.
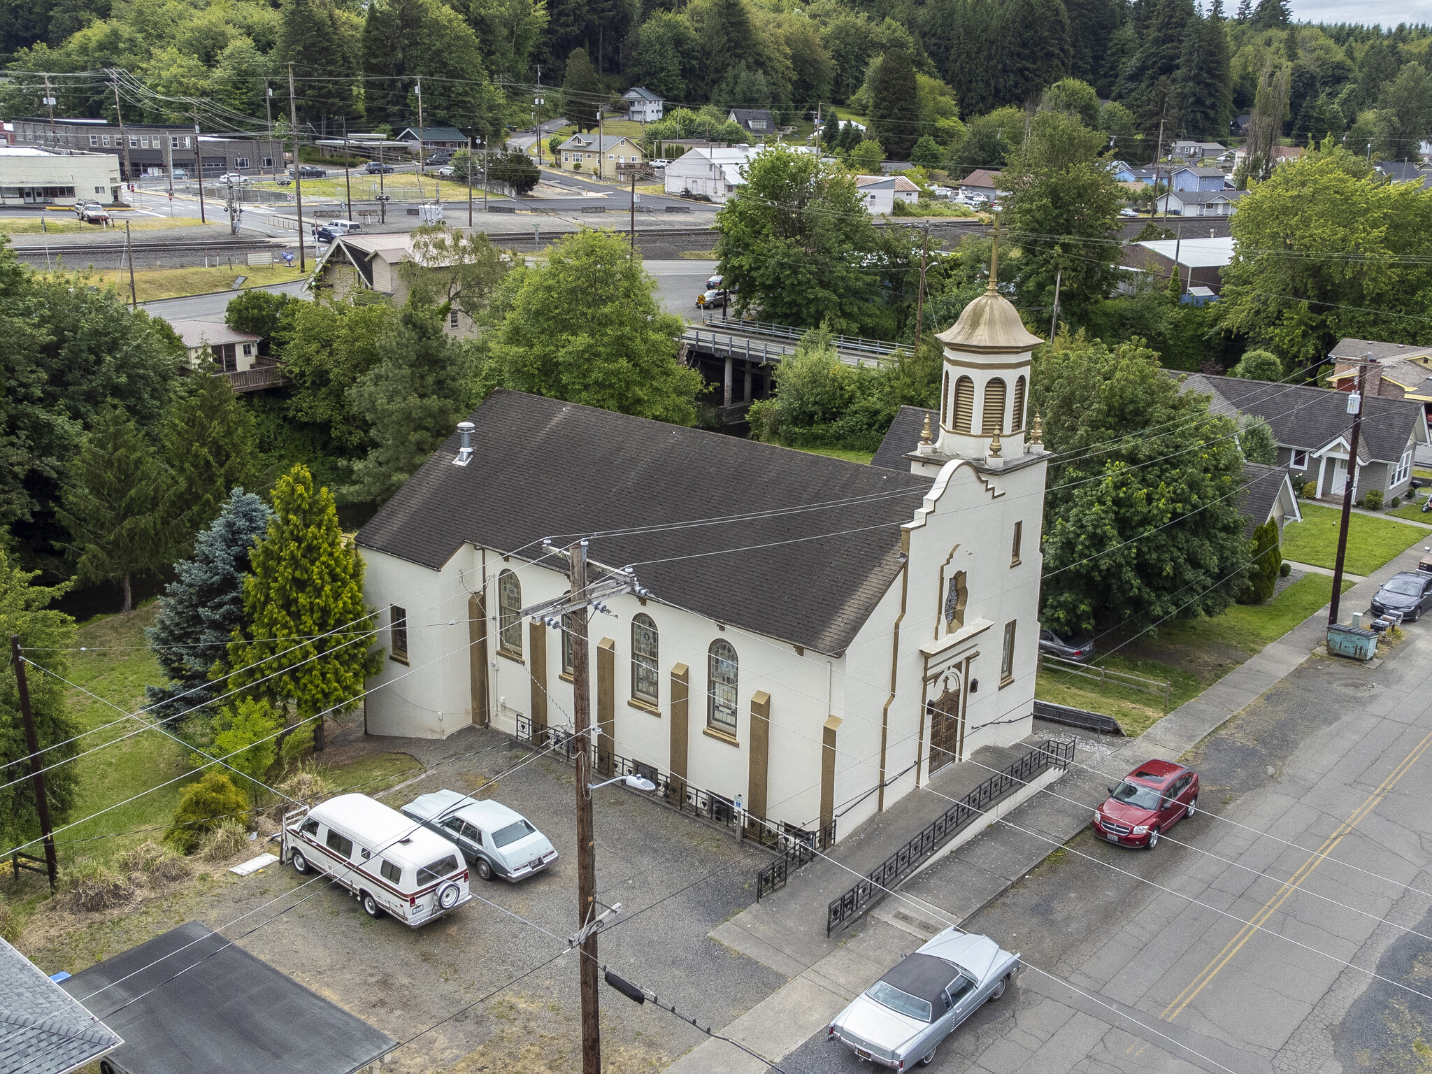
M 1340 619 L 1346 621 L 1352 611 L 1365 610 L 1383 581 L 1400 570 L 1415 570 L 1419 557 L 1421 547 L 1413 546 L 1358 581 L 1342 596 Z M 1110 779 L 1117 779 L 1148 756 L 1173 759 L 1187 753 L 1277 686 L 1323 643 L 1326 623 L 1327 610 L 1323 607 L 1137 739 L 1095 742 L 1077 737 L 1074 765 L 1051 788 L 1053 793 L 1040 793 L 1042 785 L 1050 782 L 1042 780 L 1005 799 L 1008 808 L 1001 811 L 1004 823 L 992 821 L 990 826 L 959 839 L 954 849 L 945 851 L 908 879 L 845 934 L 828 939 L 826 904 L 855 882 L 855 874 L 874 868 L 898 849 L 908 838 L 898 833 L 904 833 L 915 816 L 938 812 L 931 809 L 931 798 L 942 806 L 938 795 L 958 798 L 949 790 L 957 785 L 978 785 L 997 766 L 981 768 L 988 760 L 977 753 L 971 759 L 977 763 L 951 766 L 954 772 L 939 773 L 929 788 L 906 795 L 884 815 L 872 818 L 836 848 L 842 858 L 849 853 L 851 871 L 831 861 L 812 862 L 796 872 L 783 891 L 710 932 L 712 939 L 790 978 L 722 1032 L 765 1060 L 779 1063 L 919 944 L 997 899 L 1057 846 L 1083 831 L 1090 809 L 1103 800 Z M 1037 723 L 1037 730 L 1042 737 L 1045 733 L 1057 736 L 1064 729 Z M 948 780 L 948 788 L 941 783 L 942 779 Z M 851 851 L 843 852 L 848 843 Z M 866 861 L 868 865 L 856 865 Z M 707 1040 L 669 1070 L 679 1074 L 760 1074 L 768 1064 L 726 1041 Z

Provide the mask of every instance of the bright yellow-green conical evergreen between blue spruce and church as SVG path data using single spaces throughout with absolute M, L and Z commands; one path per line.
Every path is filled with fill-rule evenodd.
M 362 603 L 362 557 L 308 467 L 295 465 L 274 487 L 274 514 L 249 560 L 243 627 L 229 643 L 236 669 L 229 689 L 251 687 L 249 696 L 295 717 L 294 743 L 312 736 L 322 750 L 324 719 L 362 693 L 364 677 L 382 667 L 382 650 L 369 652 L 377 614 Z

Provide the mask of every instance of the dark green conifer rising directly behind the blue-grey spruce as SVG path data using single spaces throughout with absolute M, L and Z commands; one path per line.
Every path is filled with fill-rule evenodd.
M 188 377 L 165 418 L 163 445 L 175 536 L 188 541 L 213 521 L 231 488 L 256 477 L 253 414 L 223 377 Z

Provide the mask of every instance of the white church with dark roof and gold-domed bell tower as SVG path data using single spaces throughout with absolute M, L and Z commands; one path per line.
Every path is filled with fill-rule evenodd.
M 587 533 L 597 577 L 647 591 L 590 620 L 599 755 L 839 838 L 1027 736 L 1040 339 L 992 286 L 939 338 L 941 410 L 884 465 L 493 392 L 358 533 L 387 650 L 367 730 L 570 730 L 571 634 L 521 610 L 569 590 L 558 546 Z

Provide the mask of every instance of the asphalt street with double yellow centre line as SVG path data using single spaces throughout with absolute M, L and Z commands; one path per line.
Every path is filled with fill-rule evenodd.
M 1310 659 L 1194 750 L 1156 851 L 1085 831 L 964 922 L 1028 968 L 931 1070 L 1426 1071 L 1429 657 L 1411 626 L 1376 669 Z M 823 1034 L 780 1067 L 871 1070 Z

